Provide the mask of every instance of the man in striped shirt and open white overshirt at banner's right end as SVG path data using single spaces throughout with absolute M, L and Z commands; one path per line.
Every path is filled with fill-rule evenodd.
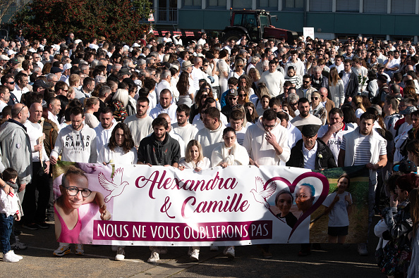
M 339 167 L 366 165 L 370 170 L 370 188 L 368 192 L 368 230 L 374 216 L 375 187 L 377 186 L 377 170 L 387 164 L 386 141 L 373 131 L 375 115 L 363 113 L 360 126 L 353 132 L 344 134 L 339 151 Z M 358 253 L 368 255 L 367 244 L 358 244 Z

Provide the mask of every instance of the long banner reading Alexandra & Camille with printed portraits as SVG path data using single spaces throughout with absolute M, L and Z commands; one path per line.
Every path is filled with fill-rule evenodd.
M 83 181 L 61 185 L 63 174 L 74 166 L 84 172 L 88 185 L 83 186 Z M 346 197 L 341 206 L 353 205 L 346 215 L 346 242 L 365 242 L 368 171 L 363 166 L 321 172 L 229 166 L 194 172 L 60 162 L 54 168 L 54 196 L 59 198 L 56 237 L 66 239 L 62 233 L 68 232 L 73 236 L 70 243 L 123 246 L 326 242 L 328 216 L 322 205 L 344 173 L 351 177 L 346 194 L 352 201 Z M 88 197 L 83 197 L 85 187 L 92 191 Z M 104 216 L 105 208 L 110 217 Z M 63 210 L 70 213 L 61 215 Z

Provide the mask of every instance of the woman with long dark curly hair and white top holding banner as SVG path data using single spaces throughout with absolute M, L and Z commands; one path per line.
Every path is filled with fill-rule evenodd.
M 137 150 L 128 125 L 123 122 L 116 124 L 109 143 L 99 151 L 97 163 L 137 164 Z M 125 260 L 125 246 L 112 246 L 112 250 L 116 251 L 115 260 Z

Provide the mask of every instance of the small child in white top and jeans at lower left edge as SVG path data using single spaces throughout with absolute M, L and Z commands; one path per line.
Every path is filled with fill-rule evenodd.
M 14 194 L 15 190 L 13 190 L 16 187 L 18 172 L 12 168 L 6 168 L 3 172 L 3 179 L 6 181 L 0 179 L 0 241 L 3 261 L 16 263 L 23 259 L 22 256 L 16 255 L 10 246 L 14 217 L 17 221 L 20 220 L 20 202 L 18 196 Z

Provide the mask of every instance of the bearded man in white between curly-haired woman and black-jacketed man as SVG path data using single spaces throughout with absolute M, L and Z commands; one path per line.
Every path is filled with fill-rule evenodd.
M 139 96 L 137 99 L 137 113 L 135 115 L 130 115 L 124 121 L 124 123 L 128 125 L 131 134 L 133 134 L 136 148 L 140 146 L 140 141 L 144 137 L 153 132 L 153 119 L 147 115 L 149 104 L 150 100 L 147 96 Z

